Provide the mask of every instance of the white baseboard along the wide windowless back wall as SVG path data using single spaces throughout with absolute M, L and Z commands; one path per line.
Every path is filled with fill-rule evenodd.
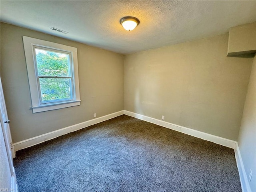
M 194 130 L 194 129 L 186 128 L 186 127 L 183 127 L 183 126 L 180 126 L 180 125 L 172 124 L 172 123 L 162 121 L 162 120 L 159 120 L 159 119 L 155 119 L 155 118 L 152 118 L 152 117 L 140 115 L 140 114 L 137 114 L 137 113 L 134 113 L 134 112 L 126 111 L 126 110 L 124 110 L 124 114 L 126 114 L 128 116 L 135 117 L 135 118 L 140 119 L 140 120 L 144 120 L 144 121 L 156 124 L 156 125 L 160 125 L 162 127 L 166 127 L 166 128 L 178 131 L 178 132 L 182 132 L 184 134 L 188 134 L 188 135 L 191 135 L 191 136 L 203 139 L 203 140 L 214 142 L 216 144 L 220 144 L 220 145 L 232 148 L 232 149 L 235 149 L 236 146 L 237 146 L 236 141 L 229 140 L 229 139 L 222 138 L 222 137 L 215 136 L 215 135 L 211 135 L 211 134 L 204 133 L 204 132 L 201 132 L 201 131 L 197 131 L 197 130 Z

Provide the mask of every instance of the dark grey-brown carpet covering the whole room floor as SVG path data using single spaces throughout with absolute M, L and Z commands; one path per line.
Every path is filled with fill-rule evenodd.
M 122 115 L 16 153 L 19 192 L 240 192 L 234 150 Z

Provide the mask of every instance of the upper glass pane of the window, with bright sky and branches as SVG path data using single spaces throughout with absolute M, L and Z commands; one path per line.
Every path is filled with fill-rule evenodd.
M 35 48 L 38 76 L 70 76 L 69 54 Z

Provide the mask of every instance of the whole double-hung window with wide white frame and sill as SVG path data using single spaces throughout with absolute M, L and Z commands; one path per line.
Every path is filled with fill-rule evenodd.
M 77 50 L 23 36 L 33 113 L 80 105 Z

